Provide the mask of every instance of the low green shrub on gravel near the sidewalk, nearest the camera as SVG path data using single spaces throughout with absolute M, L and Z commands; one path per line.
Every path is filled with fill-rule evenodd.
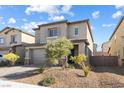
M 42 81 L 39 82 L 39 85 L 42 86 L 50 86 L 55 83 L 55 78 L 53 77 L 46 77 Z

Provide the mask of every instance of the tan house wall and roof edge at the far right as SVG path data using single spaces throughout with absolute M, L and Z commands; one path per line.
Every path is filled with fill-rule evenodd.
M 109 42 L 111 45 L 108 53 L 112 56 L 118 56 L 118 64 L 124 65 L 124 17 L 121 18 Z

